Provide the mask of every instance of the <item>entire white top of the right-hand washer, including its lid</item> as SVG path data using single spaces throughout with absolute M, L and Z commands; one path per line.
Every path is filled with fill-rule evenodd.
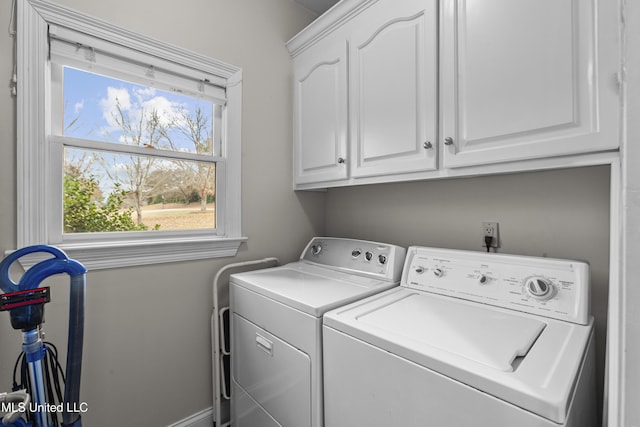
M 323 325 L 563 423 L 593 319 L 578 325 L 397 287 L 326 313 Z

